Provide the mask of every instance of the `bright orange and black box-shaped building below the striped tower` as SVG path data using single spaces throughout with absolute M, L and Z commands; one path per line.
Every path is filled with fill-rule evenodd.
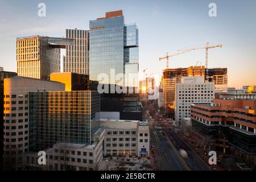
M 65 91 L 89 90 L 89 75 L 79 73 L 51 73 L 51 81 L 57 81 L 65 84 Z

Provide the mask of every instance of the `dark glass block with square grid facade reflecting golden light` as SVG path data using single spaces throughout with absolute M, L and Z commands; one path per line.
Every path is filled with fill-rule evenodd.
M 30 151 L 57 142 L 91 144 L 100 127 L 100 94 L 96 91 L 30 92 Z

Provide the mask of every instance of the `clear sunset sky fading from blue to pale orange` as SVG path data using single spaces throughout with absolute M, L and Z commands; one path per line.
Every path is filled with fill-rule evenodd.
M 46 4 L 46 17 L 38 4 Z M 209 4 L 216 15 L 210 17 Z M 177 49 L 222 44 L 209 50 L 208 68 L 228 68 L 228 86 L 256 85 L 256 1 L 218 0 L 0 0 L 0 67 L 16 72 L 16 38 L 30 35 L 64 37 L 66 28 L 89 30 L 89 20 L 123 10 L 126 23 L 139 28 L 139 72 L 155 74 L 166 68 L 160 56 Z M 62 54 L 65 51 L 61 51 Z M 205 64 L 205 50 L 171 57 L 170 68 Z M 62 65 L 61 65 L 62 68 Z

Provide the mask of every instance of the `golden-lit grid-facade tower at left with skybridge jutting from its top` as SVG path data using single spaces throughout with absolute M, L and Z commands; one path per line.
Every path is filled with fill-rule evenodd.
M 60 48 L 73 45 L 73 39 L 27 36 L 16 39 L 18 76 L 48 80 L 60 72 Z

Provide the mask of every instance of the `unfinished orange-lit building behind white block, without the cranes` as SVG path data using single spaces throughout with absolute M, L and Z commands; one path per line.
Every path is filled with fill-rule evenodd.
M 175 68 L 164 69 L 162 83 L 163 83 L 163 97 L 164 106 L 169 115 L 174 115 L 175 104 L 175 85 L 181 82 L 184 76 L 203 76 L 204 80 L 214 82 L 216 91 L 223 92 L 228 88 L 228 70 L 227 68 L 211 68 L 205 69 L 204 66 L 196 66 L 189 68 Z

